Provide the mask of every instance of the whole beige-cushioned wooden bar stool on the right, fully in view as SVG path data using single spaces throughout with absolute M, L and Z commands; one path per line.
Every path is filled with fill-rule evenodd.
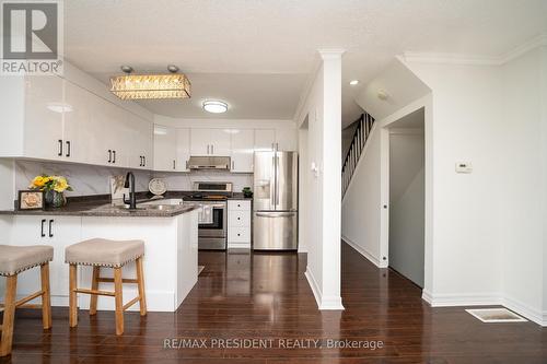
M 144 295 L 144 277 L 142 271 L 142 240 L 108 240 L 94 238 L 68 246 L 65 249 L 65 262 L 70 265 L 69 290 L 69 322 L 70 327 L 78 325 L 78 293 L 91 294 L 90 315 L 97 313 L 97 295 L 110 296 L 116 303 L 116 334 L 124 333 L 124 312 L 139 302 L 140 315 L 147 315 L 147 298 Z M 121 268 L 136 261 L 137 279 L 123 279 Z M 91 290 L 79 289 L 77 284 L 78 266 L 93 266 Z M 113 268 L 114 279 L 101 278 L 101 268 Z M 114 292 L 100 291 L 98 283 L 114 283 Z M 136 283 L 139 295 L 124 305 L 123 283 Z

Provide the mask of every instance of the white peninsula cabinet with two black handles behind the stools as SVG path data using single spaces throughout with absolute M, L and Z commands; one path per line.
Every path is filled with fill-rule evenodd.
M 56 215 L 18 215 L 10 219 L 12 219 L 10 245 L 54 247 L 54 260 L 49 262 L 51 305 L 68 305 L 69 268 L 65 263 L 65 248 L 81 240 L 82 219 Z M 26 296 L 39 290 L 39 268 L 32 268 L 18 275 L 18 296 Z

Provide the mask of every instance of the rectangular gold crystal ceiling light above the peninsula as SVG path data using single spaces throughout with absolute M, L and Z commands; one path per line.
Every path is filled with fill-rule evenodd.
M 110 78 L 110 92 L 121 99 L 189 98 L 191 84 L 178 67 L 170 64 L 171 73 L 131 74 L 130 66 L 121 66 L 125 75 Z

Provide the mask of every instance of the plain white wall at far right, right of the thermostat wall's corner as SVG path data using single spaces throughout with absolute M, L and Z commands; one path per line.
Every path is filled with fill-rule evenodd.
M 537 316 L 546 294 L 544 267 L 547 193 L 547 121 L 542 117 L 547 89 L 545 48 L 537 48 L 501 69 L 502 110 L 499 180 L 500 243 L 503 249 L 501 274 L 505 300 Z

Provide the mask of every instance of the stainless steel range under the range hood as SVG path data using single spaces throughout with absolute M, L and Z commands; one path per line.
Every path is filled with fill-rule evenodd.
M 232 196 L 231 183 L 194 183 L 194 192 L 184 198 L 201 207 L 199 212 L 198 247 L 208 250 L 226 249 L 226 207 Z

